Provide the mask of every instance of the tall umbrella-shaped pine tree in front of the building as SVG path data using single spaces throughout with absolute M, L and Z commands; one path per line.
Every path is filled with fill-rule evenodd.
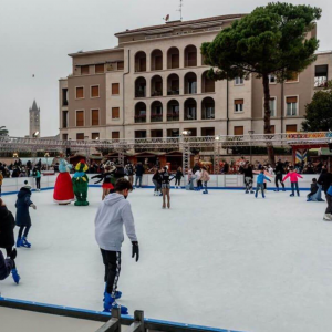
M 264 94 L 264 134 L 271 133 L 269 75 L 278 82 L 293 77 L 315 61 L 319 41 L 310 37 L 321 9 L 290 3 L 258 7 L 229 28 L 221 30 L 212 42 L 201 45 L 205 63 L 214 66 L 214 80 L 262 80 Z M 268 144 L 269 162 L 274 165 L 274 151 Z

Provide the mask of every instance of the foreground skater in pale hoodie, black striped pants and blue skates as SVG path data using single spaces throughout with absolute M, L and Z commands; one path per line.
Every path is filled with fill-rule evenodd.
M 115 184 L 115 193 L 110 194 L 100 204 L 95 216 L 95 239 L 100 246 L 105 266 L 104 311 L 121 307 L 121 313 L 127 314 L 126 307 L 116 303 L 122 293 L 117 291 L 121 271 L 121 247 L 124 241 L 123 227 L 132 241 L 132 257 L 139 258 L 138 241 L 131 204 L 126 198 L 133 186 L 124 178 Z

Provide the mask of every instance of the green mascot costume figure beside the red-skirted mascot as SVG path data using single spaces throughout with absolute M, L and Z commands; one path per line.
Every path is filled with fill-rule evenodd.
M 85 164 L 85 160 L 81 160 L 75 166 L 75 174 L 72 178 L 74 194 L 76 196 L 75 206 L 86 206 L 89 205 L 87 198 L 87 183 L 89 177 L 86 176 L 85 172 L 89 169 L 89 166 Z

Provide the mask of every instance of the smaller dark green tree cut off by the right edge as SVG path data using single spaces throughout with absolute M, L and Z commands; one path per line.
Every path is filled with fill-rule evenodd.
M 305 132 L 332 131 L 332 81 L 328 87 L 314 93 L 310 104 L 305 105 L 304 118 L 302 128 Z

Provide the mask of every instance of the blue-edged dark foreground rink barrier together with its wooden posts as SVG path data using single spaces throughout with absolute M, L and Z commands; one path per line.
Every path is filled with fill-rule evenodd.
M 45 304 L 40 302 L 31 302 L 0 297 L 0 308 L 1 307 L 15 310 L 25 310 L 37 313 L 68 317 L 73 319 L 104 322 L 105 324 L 101 326 L 96 332 L 121 332 L 122 325 L 129 326 L 129 329 L 126 331 L 131 332 L 240 332 L 234 330 L 148 319 L 144 318 L 144 312 L 142 310 L 136 310 L 133 317 L 129 314 L 121 315 L 120 309 L 113 309 L 111 315 L 110 313 L 101 311 Z

